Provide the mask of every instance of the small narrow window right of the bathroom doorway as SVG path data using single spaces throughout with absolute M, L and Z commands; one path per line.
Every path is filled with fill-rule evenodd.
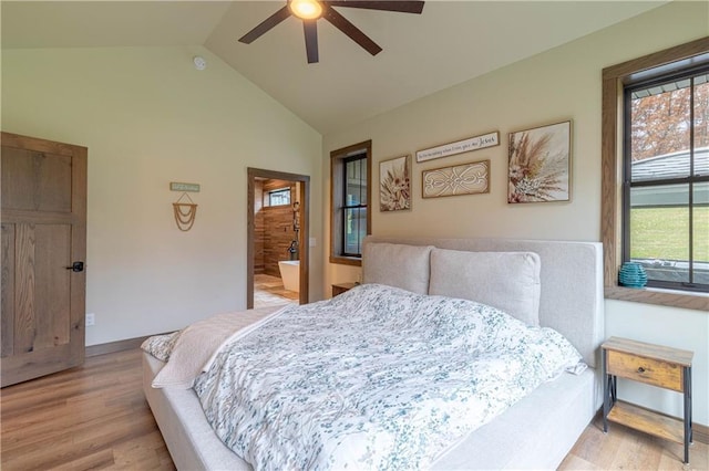
M 371 233 L 371 142 L 330 153 L 330 262 L 360 265 Z

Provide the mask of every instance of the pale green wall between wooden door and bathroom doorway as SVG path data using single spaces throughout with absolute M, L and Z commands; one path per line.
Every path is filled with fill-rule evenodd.
M 2 129 L 89 148 L 86 345 L 246 307 L 247 167 L 309 175 L 322 211 L 321 136 L 202 48 L 4 50 Z M 202 186 L 189 232 L 171 181 Z

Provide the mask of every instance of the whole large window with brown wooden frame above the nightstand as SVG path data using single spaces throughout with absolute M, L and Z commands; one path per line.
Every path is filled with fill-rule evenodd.
M 702 38 L 603 71 L 606 297 L 709 308 L 708 66 Z M 648 290 L 618 286 L 626 260 L 649 269 Z

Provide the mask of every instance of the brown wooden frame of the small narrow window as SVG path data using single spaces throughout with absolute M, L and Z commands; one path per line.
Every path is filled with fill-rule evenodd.
M 367 234 L 372 227 L 372 142 L 332 150 L 330 153 L 330 263 L 361 266 L 361 255 L 345 253 L 345 166 L 348 159 L 364 154 L 367 159 Z

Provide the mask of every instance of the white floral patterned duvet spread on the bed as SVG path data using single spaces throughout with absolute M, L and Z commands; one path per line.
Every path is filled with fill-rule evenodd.
M 256 470 L 411 470 L 584 367 L 553 329 L 366 284 L 236 338 L 194 388 L 219 438 Z

